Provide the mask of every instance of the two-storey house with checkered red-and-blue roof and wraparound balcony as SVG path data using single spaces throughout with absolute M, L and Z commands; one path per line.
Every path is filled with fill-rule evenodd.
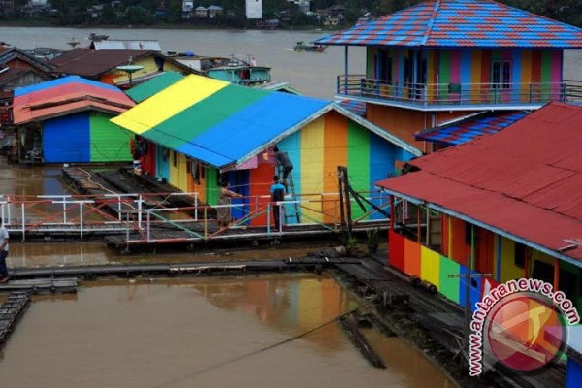
M 563 52 L 582 30 L 492 0 L 430 0 L 314 42 L 345 47 L 338 98 L 424 151 L 417 131 L 481 111 L 538 109 L 580 100 L 563 77 Z M 349 47 L 365 47 L 365 75 Z

